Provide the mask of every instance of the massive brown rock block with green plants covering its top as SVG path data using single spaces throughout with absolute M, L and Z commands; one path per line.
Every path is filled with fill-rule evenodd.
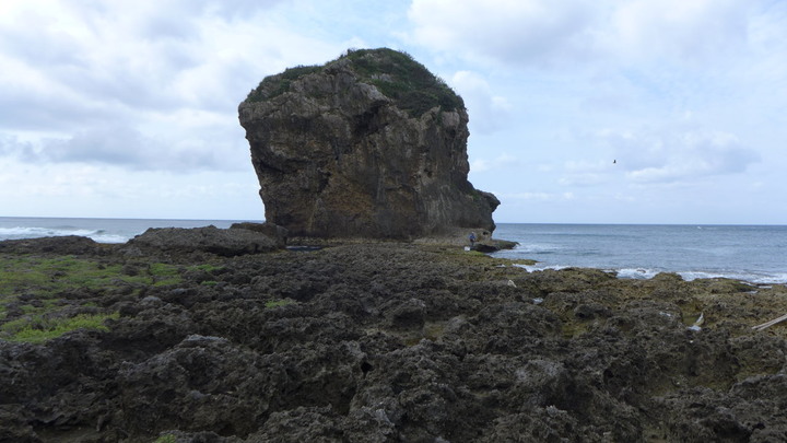
M 293 236 L 493 231 L 468 182 L 468 114 L 408 55 L 356 50 L 266 78 L 238 108 L 269 222 Z

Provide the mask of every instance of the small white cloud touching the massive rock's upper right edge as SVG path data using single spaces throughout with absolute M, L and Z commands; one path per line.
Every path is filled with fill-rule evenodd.
M 490 133 L 506 127 L 512 105 L 505 97 L 494 95 L 483 77 L 471 71 L 459 71 L 450 83 L 465 100 L 471 131 Z

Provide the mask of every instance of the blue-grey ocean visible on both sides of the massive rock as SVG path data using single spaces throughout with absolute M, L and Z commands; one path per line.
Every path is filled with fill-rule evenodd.
M 0 241 L 83 235 L 125 243 L 149 228 L 228 228 L 243 220 L 2 218 Z M 685 280 L 726 277 L 759 284 L 787 283 L 787 226 L 501 223 L 496 238 L 518 242 L 493 256 L 538 260 L 530 271 L 588 267 L 620 278 L 677 272 Z

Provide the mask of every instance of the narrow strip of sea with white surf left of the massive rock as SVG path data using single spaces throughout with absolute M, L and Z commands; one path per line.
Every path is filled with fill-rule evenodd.
M 81 235 L 99 243 L 126 243 L 149 228 L 230 228 L 240 220 L 54 219 L 0 217 L 0 241 Z

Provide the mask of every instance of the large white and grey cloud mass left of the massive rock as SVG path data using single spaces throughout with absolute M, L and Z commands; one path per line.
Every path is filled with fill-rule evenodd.
M 285 4 L 2 2 L 0 155 L 137 171 L 250 168 L 237 104 L 266 74 L 341 48 L 290 28 L 278 12 Z

